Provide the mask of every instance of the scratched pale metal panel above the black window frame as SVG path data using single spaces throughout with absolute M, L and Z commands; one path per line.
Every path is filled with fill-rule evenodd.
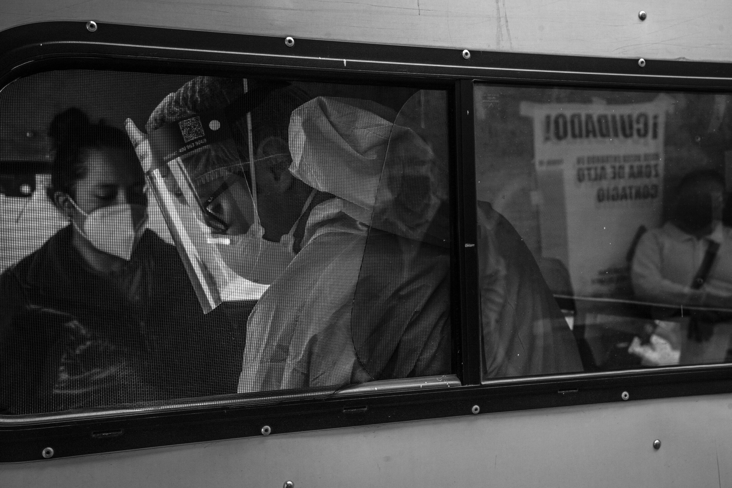
M 638 19 L 641 9 L 648 12 L 645 21 Z M 0 1 L 0 30 L 42 20 L 461 50 L 732 61 L 729 0 Z

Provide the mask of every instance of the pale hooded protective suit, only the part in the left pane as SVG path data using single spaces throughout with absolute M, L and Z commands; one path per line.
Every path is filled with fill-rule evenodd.
M 325 96 L 292 112 L 289 172 L 333 198 L 255 307 L 239 391 L 451 372 L 446 112 L 439 91 L 398 114 Z

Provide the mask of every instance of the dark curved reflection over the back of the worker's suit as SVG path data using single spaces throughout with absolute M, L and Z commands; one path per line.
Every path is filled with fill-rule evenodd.
M 444 91 L 418 91 L 391 127 L 351 312 L 367 380 L 450 369 L 447 135 Z

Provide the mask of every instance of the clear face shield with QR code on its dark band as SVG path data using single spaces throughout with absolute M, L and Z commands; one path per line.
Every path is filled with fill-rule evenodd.
M 199 113 L 149 135 L 154 165 L 150 187 L 204 312 L 222 301 L 255 300 L 266 290 L 232 269 L 247 269 L 261 236 L 256 200 L 223 113 Z M 253 173 L 253 172 L 251 172 Z M 243 262 L 243 263 L 242 263 Z M 245 273 L 244 273 L 245 274 Z

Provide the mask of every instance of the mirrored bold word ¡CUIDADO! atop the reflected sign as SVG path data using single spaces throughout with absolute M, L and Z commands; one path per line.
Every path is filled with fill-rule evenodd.
M 571 139 L 658 138 L 658 114 L 548 113 L 544 141 Z

